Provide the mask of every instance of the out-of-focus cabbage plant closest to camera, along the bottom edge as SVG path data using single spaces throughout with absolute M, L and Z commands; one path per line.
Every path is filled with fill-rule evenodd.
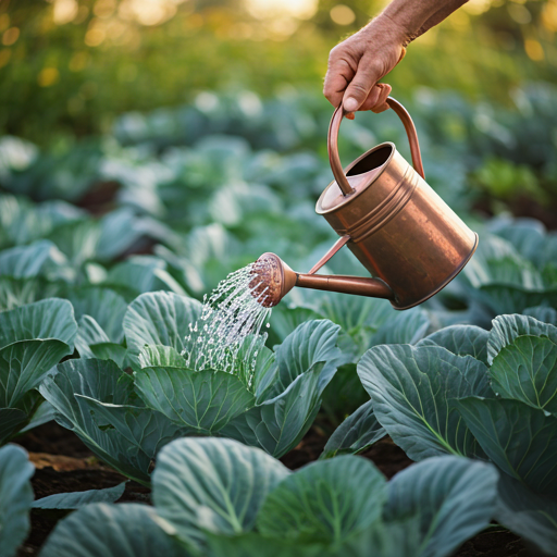
M 490 523 L 497 472 L 444 456 L 387 482 L 361 457 L 290 472 L 232 440 L 166 445 L 151 507 L 94 504 L 61 521 L 40 557 L 444 557 Z

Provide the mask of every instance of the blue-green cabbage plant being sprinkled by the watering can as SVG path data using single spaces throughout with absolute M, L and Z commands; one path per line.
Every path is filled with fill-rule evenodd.
M 199 301 L 172 293 L 134 300 L 123 323 L 133 375 L 113 361 L 122 355 L 103 342 L 98 324 L 84 319 L 82 352 L 98 355 L 102 346 L 109 359 L 69 360 L 40 386 L 59 423 L 139 482 L 149 482 L 158 450 L 183 435 L 232 437 L 284 455 L 310 428 L 336 371 L 339 327 L 327 320 L 302 323 L 274 351 L 260 349 L 251 382 L 242 350 L 233 373 L 188 369 L 182 351 L 200 313 Z

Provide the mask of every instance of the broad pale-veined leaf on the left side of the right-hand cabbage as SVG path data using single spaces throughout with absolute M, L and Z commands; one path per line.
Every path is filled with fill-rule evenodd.
M 437 346 L 375 346 L 358 364 L 375 416 L 412 460 L 480 455 L 449 398 L 493 396 L 485 366 Z

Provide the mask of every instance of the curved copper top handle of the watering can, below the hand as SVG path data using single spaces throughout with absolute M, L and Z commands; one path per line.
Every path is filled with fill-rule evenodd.
M 387 97 L 387 104 L 396 112 L 398 117 L 403 121 L 403 124 L 406 129 L 406 135 L 408 136 L 408 141 L 410 143 L 410 152 L 412 154 L 412 164 L 416 169 L 416 172 L 420 174 L 422 178 L 425 178 L 423 173 L 423 164 L 422 157 L 420 154 L 420 144 L 418 143 L 418 134 L 416 133 L 416 126 L 413 125 L 412 119 L 408 111 L 398 102 L 393 99 L 393 97 Z M 329 140 L 327 140 L 327 149 L 329 149 L 329 161 L 331 163 L 331 169 L 333 170 L 333 174 L 335 176 L 336 183 L 338 187 L 343 190 L 345 196 L 352 193 L 352 187 L 346 180 L 346 174 L 344 172 L 343 165 L 341 164 L 341 158 L 338 157 L 338 131 L 341 129 L 341 122 L 343 117 L 346 115 L 346 112 L 341 104 L 334 112 L 333 117 L 331 120 L 331 125 L 329 126 Z

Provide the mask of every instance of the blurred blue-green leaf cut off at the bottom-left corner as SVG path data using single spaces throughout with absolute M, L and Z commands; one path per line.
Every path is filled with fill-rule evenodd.
M 15 445 L 0 448 L 0 555 L 12 557 L 29 531 L 35 467 Z

